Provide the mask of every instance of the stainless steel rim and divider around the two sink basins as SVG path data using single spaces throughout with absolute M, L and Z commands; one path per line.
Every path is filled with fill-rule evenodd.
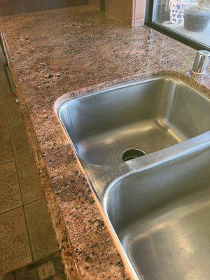
M 90 97 L 94 94 L 100 94 L 100 93 L 107 92 L 109 90 L 127 87 L 129 85 L 137 85 L 139 83 L 144 83 L 145 81 L 157 80 L 157 79 L 162 79 L 162 78 L 163 79 L 167 78 L 172 81 L 175 80 L 179 83 L 183 83 L 184 85 L 188 85 L 188 87 L 193 88 L 193 90 L 196 91 L 197 94 L 200 94 L 204 99 L 206 99 L 207 102 L 210 102 L 210 98 L 206 94 L 201 92 L 201 90 L 198 90 L 196 87 L 193 87 L 192 85 L 190 85 L 190 81 L 188 82 L 186 80 L 183 80 L 182 78 L 177 78 L 172 75 L 169 75 L 169 76 L 162 75 L 162 76 L 153 76 L 152 78 L 142 78 L 140 80 L 135 80 L 135 81 L 131 81 L 131 82 L 128 81 L 126 83 L 121 83 L 118 85 L 111 85 L 109 87 L 106 87 L 105 89 L 102 88 L 101 90 L 96 90 L 93 92 L 87 91 L 87 92 L 85 92 L 85 94 L 83 94 L 83 96 L 67 99 L 66 101 L 59 104 L 57 106 L 57 108 L 56 108 L 56 102 L 55 102 L 55 113 L 57 114 L 59 122 L 62 124 L 62 127 L 66 133 L 66 137 L 68 137 L 68 139 L 70 141 L 70 146 L 71 146 L 73 152 L 76 154 L 76 158 L 80 162 L 82 167 L 83 167 L 83 162 L 85 162 L 88 166 L 90 166 L 90 168 L 94 168 L 93 173 L 94 173 L 94 170 L 97 170 L 97 169 L 103 169 L 104 172 L 106 172 L 108 170 L 108 172 L 109 172 L 112 168 L 115 168 L 115 169 L 118 169 L 118 171 L 119 171 L 119 173 L 116 174 L 116 177 L 113 176 L 113 177 L 111 177 L 111 181 L 106 181 L 106 183 L 104 183 L 104 186 L 103 186 L 104 189 L 103 189 L 102 193 L 99 193 L 99 190 L 97 190 L 97 186 L 94 185 L 94 182 L 92 181 L 90 176 L 88 176 L 87 170 L 85 170 L 85 168 L 83 168 L 84 174 L 87 175 L 86 176 L 87 182 L 89 183 L 90 188 L 92 189 L 92 193 L 94 194 L 95 199 L 98 202 L 99 209 L 101 209 L 101 211 L 102 211 L 102 216 L 104 216 L 104 220 L 106 221 L 106 224 L 108 225 L 108 229 L 111 234 L 111 237 L 118 248 L 121 258 L 123 258 L 128 271 L 131 274 L 130 276 L 136 280 L 139 280 L 139 279 L 143 280 L 144 277 L 141 276 L 141 273 L 139 276 L 139 272 L 137 274 L 134 265 L 132 265 L 132 262 L 128 258 L 128 255 L 125 252 L 123 245 L 121 244 L 120 239 L 118 238 L 118 235 L 116 234 L 116 231 L 114 230 L 113 225 L 111 224 L 111 221 L 109 220 L 109 216 L 107 214 L 107 208 L 106 208 L 106 204 L 105 204 L 106 197 L 109 194 L 109 191 L 111 190 L 112 186 L 114 184 L 116 184 L 116 182 L 122 180 L 123 178 L 125 178 L 127 176 L 131 176 L 134 173 L 141 172 L 144 169 L 151 168 L 153 165 L 158 165 L 163 162 L 167 162 L 167 160 L 169 160 L 169 158 L 167 158 L 166 155 L 169 155 L 170 153 L 172 153 L 171 158 L 173 157 L 173 155 L 174 155 L 174 157 L 175 156 L 180 157 L 181 155 L 184 155 L 185 153 L 187 153 L 186 151 L 189 151 L 189 150 L 192 151 L 192 149 L 198 149 L 202 145 L 209 146 L 210 145 L 210 130 L 207 132 L 204 132 L 203 134 L 200 134 L 196 137 L 182 141 L 181 143 L 169 146 L 168 148 L 163 148 L 160 151 L 155 151 L 153 153 L 149 153 L 148 155 L 145 155 L 142 158 L 140 157 L 140 158 L 136 158 L 134 160 L 130 160 L 127 162 L 120 162 L 117 165 L 94 165 L 91 162 L 87 162 L 87 161 L 83 160 L 78 155 L 76 148 L 75 148 L 73 142 L 71 141 L 71 137 L 69 136 L 68 132 L 66 131 L 66 128 L 64 127 L 64 124 L 62 123 L 61 118 L 59 118 L 59 112 L 63 108 L 63 106 L 66 106 L 66 104 L 68 104 L 69 102 L 74 102 L 76 99 L 77 100 L 84 99 L 84 98 Z M 164 154 L 164 156 L 161 158 L 162 154 Z M 156 158 L 156 160 L 155 160 L 155 158 Z M 153 163 L 150 162 L 151 159 L 153 159 Z M 127 167 L 127 169 L 123 170 L 123 167 Z M 122 170 L 120 170 L 120 169 L 122 169 Z M 141 267 L 140 267 L 140 269 L 141 269 Z

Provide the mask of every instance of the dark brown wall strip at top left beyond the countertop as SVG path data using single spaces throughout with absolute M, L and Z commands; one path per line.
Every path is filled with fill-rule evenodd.
M 0 0 L 0 15 L 30 13 L 87 4 L 88 0 Z

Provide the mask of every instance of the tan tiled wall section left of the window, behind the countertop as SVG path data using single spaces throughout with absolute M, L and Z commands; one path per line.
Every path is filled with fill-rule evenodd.
M 146 0 L 90 0 L 90 4 L 104 6 L 106 13 L 132 27 L 144 25 Z

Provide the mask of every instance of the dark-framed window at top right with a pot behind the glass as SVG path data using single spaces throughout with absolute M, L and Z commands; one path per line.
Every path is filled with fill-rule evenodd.
M 146 25 L 197 50 L 210 50 L 210 0 L 148 0 Z

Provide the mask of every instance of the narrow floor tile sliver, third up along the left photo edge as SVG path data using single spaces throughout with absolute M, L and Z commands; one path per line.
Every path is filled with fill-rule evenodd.
M 0 124 L 0 164 L 13 160 L 12 146 L 10 144 L 10 134 L 7 125 Z

